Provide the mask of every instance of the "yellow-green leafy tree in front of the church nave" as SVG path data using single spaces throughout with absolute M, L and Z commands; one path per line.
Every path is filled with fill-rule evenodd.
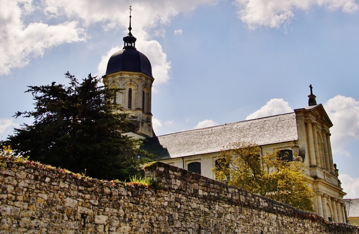
M 289 162 L 278 151 L 261 155 L 252 143 L 225 147 L 212 169 L 216 179 L 302 210 L 313 211 L 313 191 L 302 162 Z

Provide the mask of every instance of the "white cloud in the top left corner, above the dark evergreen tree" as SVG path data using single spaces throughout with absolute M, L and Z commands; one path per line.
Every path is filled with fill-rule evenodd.
M 23 18 L 35 9 L 31 4 L 30 0 L 1 0 L 0 75 L 28 65 L 30 59 L 42 56 L 46 49 L 85 40 L 84 30 L 78 28 L 76 21 L 25 25 Z

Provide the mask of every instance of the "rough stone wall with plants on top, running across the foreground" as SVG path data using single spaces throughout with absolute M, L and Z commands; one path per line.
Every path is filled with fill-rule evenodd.
M 0 234 L 359 234 L 288 205 L 156 162 L 156 189 L 2 162 Z

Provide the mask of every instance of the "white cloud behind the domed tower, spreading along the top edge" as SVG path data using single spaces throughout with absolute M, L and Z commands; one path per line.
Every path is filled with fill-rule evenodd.
M 132 33 L 138 38 L 137 49 L 151 61 L 152 74 L 155 78 L 153 90 L 156 91 L 155 86 L 167 82 L 170 78 L 171 62 L 163 52 L 162 46 L 155 40 L 149 40 L 151 35 L 164 36 L 165 29 L 154 28 L 168 25 L 171 18 L 179 12 L 194 10 L 201 4 L 216 4 L 218 0 L 102 0 L 96 2 L 92 0 L 44 0 L 44 2 L 45 12 L 49 16 L 66 16 L 76 19 L 83 22 L 85 27 L 99 23 L 105 30 L 120 28 L 124 29 L 124 33 L 127 32 L 126 28 L 128 27 L 128 6 L 132 5 Z M 98 65 L 100 75 L 104 74 L 103 72 L 106 70 L 104 67 L 108 60 L 106 61 L 104 58 L 109 57 L 109 53 L 101 58 Z

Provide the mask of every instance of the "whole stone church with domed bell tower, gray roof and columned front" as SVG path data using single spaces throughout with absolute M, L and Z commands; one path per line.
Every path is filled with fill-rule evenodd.
M 109 88 L 123 88 L 113 101 L 130 114 L 135 126 L 124 133 L 146 139 L 143 149 L 158 160 L 214 179 L 211 169 L 223 146 L 235 142 L 254 142 L 262 153 L 279 150 L 289 158 L 301 157 L 305 175 L 314 192 L 315 213 L 328 221 L 345 223 L 343 192 L 338 169 L 333 164 L 330 131 L 333 126 L 310 86 L 308 106 L 292 113 L 263 117 L 218 126 L 156 136 L 152 129 L 150 60 L 135 47 L 131 33 L 123 37 L 124 47 L 108 61 L 103 83 Z

